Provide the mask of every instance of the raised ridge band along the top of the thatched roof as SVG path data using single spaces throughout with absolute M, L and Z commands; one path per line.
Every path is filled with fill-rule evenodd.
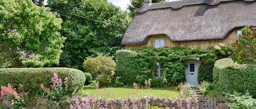
M 180 9 L 184 6 L 197 5 L 197 4 L 217 5 L 221 2 L 231 2 L 231 1 L 253 2 L 255 0 L 182 0 L 182 1 L 174 1 L 174 2 L 151 3 L 139 8 L 137 12 L 143 13 L 148 10 L 163 9 L 163 8 Z

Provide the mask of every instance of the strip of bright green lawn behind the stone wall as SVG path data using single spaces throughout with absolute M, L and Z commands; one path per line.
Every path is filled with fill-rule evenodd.
M 164 97 L 164 98 L 177 98 L 180 97 L 179 92 L 168 91 L 163 89 L 134 89 L 134 88 L 91 88 L 84 87 L 78 92 L 79 95 L 89 94 L 91 96 L 96 95 L 97 97 L 105 97 L 105 98 L 139 98 L 145 95 L 151 97 Z

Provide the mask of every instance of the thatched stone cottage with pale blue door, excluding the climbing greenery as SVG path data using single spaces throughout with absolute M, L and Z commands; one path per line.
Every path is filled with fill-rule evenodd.
M 207 48 L 219 43 L 236 42 L 236 35 L 241 34 L 240 29 L 247 25 L 256 25 L 255 0 L 183 0 L 163 3 L 144 0 L 144 6 L 137 10 L 122 44 L 127 49 L 151 46 Z M 189 66 L 185 68 L 187 82 L 191 80 L 195 84 L 199 59 L 185 60 L 184 63 Z M 194 77 L 190 79 L 187 74 Z

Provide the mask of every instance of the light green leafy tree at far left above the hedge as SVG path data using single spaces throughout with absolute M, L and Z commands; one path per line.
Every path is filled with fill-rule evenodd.
M 61 18 L 31 0 L 0 1 L 0 67 L 58 64 L 65 37 Z

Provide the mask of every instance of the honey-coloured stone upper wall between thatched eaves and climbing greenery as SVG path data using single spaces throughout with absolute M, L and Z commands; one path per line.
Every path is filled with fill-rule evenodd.
M 144 47 L 154 47 L 155 38 L 164 38 L 166 47 L 201 47 L 206 49 L 207 47 L 213 47 L 219 43 L 231 44 L 236 42 L 236 29 L 234 29 L 228 37 L 222 40 L 209 40 L 209 41 L 187 41 L 187 42 L 172 42 L 166 35 L 152 35 L 150 39 L 145 44 L 129 44 L 126 45 L 126 49 L 140 49 Z

